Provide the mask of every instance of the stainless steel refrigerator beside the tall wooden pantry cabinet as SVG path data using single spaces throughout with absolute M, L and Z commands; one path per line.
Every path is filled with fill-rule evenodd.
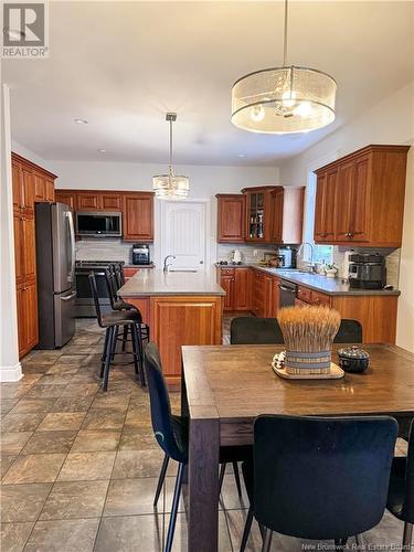
M 75 332 L 75 232 L 64 203 L 36 203 L 39 349 L 55 349 Z

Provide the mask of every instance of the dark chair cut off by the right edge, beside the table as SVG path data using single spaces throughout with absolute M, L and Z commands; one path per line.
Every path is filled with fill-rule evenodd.
M 403 548 L 411 550 L 414 524 L 414 422 L 408 435 L 406 456 L 396 456 L 392 461 L 388 510 L 404 521 Z

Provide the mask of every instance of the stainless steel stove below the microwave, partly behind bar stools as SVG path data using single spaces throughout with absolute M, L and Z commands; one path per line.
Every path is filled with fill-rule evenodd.
M 88 275 L 91 272 L 95 273 L 96 286 L 98 289 L 99 305 L 102 311 L 110 311 L 110 302 L 108 296 L 108 288 L 105 280 L 104 268 L 109 265 L 125 263 L 123 261 L 76 261 L 75 276 L 76 276 L 76 304 L 75 312 L 76 318 L 95 318 L 95 304 L 91 293 Z

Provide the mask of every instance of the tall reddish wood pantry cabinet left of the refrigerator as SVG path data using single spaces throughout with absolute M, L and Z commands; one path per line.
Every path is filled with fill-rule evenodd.
M 17 153 L 12 153 L 11 163 L 19 355 L 21 358 L 39 341 L 34 203 L 53 201 L 56 177 Z

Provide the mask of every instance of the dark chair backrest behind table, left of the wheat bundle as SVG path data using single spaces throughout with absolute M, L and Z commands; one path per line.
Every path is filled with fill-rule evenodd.
M 283 343 L 284 337 L 276 318 L 243 316 L 231 321 L 230 342 L 232 344 Z

